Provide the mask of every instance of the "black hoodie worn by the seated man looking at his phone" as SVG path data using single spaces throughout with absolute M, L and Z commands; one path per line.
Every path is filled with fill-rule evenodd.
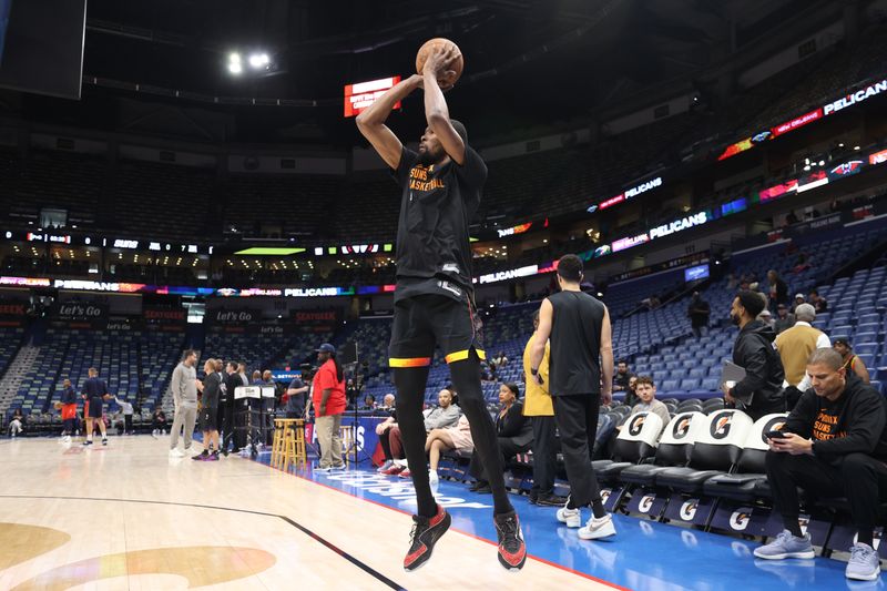
M 881 461 L 887 459 L 887 405 L 878 391 L 855 375 L 847 376 L 844 394 L 847 399 L 838 417 L 836 430 L 846 434 L 814 444 L 814 454 L 834 461 L 847 454 L 866 454 Z M 813 436 L 813 426 L 825 406 L 824 399 L 810 388 L 795 406 L 783 430 L 804 438 Z

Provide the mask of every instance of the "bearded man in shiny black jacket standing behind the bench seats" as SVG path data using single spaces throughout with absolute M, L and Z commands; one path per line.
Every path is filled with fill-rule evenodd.
M 733 363 L 745 369 L 745 378 L 735 385 L 723 385 L 724 399 L 754 420 L 771 412 L 785 412 L 785 371 L 773 345 L 776 333 L 755 319 L 763 309 L 764 299 L 755 292 L 743 289 L 733 300 L 730 318 L 740 327 Z

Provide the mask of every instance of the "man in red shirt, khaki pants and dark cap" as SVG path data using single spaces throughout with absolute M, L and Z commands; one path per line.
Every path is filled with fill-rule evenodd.
M 336 347 L 324 343 L 317 349 L 320 367 L 314 375 L 312 403 L 314 404 L 314 428 L 320 444 L 318 470 L 345 468 L 341 457 L 341 414 L 345 412 L 345 371 L 336 357 Z

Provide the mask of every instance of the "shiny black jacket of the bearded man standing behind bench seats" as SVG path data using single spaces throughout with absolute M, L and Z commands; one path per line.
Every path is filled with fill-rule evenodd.
M 773 345 L 775 338 L 772 327 L 752 320 L 740 330 L 733 345 L 733 363 L 745 369 L 745 378 L 734 386 L 731 395 L 743 403 L 755 420 L 769 412 L 785 411 L 785 371 Z

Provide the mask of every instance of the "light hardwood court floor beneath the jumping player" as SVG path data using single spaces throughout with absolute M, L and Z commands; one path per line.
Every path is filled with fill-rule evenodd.
M 166 438 L 0 442 L 0 589 L 612 589 L 451 531 L 421 570 L 408 514 L 236 456 L 171 460 Z

